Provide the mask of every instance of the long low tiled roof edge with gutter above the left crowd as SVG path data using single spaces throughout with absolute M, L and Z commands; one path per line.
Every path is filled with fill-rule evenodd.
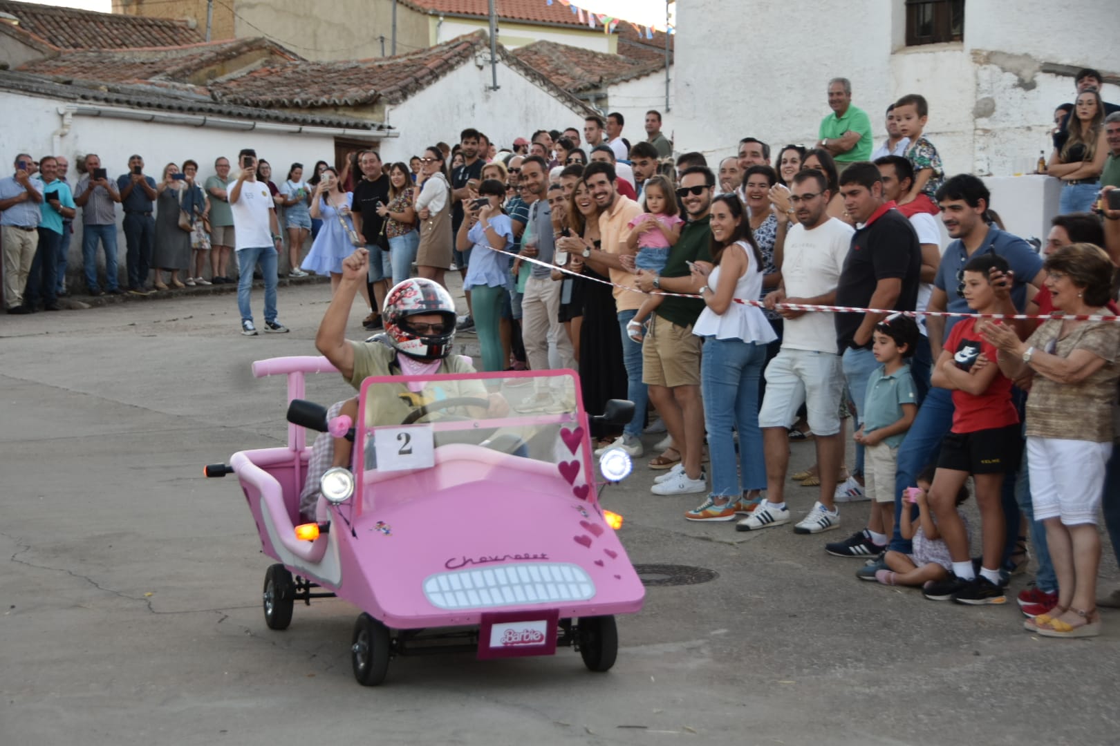
M 0 69 L 0 89 L 43 96 L 82 105 L 108 104 L 127 108 L 242 119 L 258 122 L 279 122 L 305 126 L 346 128 L 352 130 L 391 130 L 377 122 L 346 116 L 293 114 L 272 108 L 236 106 L 213 101 L 206 88 L 169 89 L 153 85 L 62 81 L 30 73 Z

